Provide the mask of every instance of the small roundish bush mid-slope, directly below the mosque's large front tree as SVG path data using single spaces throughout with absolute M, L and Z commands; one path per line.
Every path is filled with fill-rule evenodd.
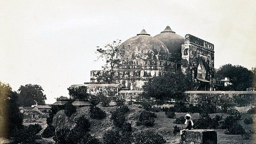
M 136 122 L 137 125 L 145 125 L 145 126 L 153 126 L 154 118 L 157 118 L 155 113 L 151 113 L 149 111 L 142 111 L 139 116 L 139 121 Z

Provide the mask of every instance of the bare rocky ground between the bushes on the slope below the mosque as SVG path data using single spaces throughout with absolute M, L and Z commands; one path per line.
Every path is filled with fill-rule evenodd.
M 63 111 L 59 111 L 53 119 L 53 125 L 56 126 L 57 129 L 63 128 L 63 127 L 69 127 L 75 125 L 74 120 L 78 117 L 85 116 L 89 118 L 91 122 L 91 131 L 90 134 L 97 137 L 98 139 L 102 140 L 103 133 L 113 128 L 112 120 L 110 120 L 110 111 L 113 111 L 116 107 L 101 107 L 102 110 L 106 111 L 107 117 L 103 120 L 92 120 L 89 115 L 89 107 L 79 107 L 77 109 L 77 112 L 73 114 L 71 117 L 65 116 Z M 158 133 L 160 133 L 169 144 L 178 144 L 180 142 L 180 135 L 179 134 L 173 134 L 173 126 L 177 125 L 179 127 L 184 127 L 185 125 L 179 125 L 179 124 L 173 124 L 173 121 L 175 119 L 167 118 L 165 115 L 165 112 L 158 112 L 157 118 L 155 118 L 155 125 L 152 127 L 147 126 L 136 126 L 136 121 L 138 120 L 138 116 L 141 111 L 144 109 L 138 108 L 138 106 L 133 105 L 129 106 L 130 112 L 128 113 L 126 119 L 128 122 L 132 124 L 133 132 L 139 132 L 141 130 L 146 129 L 154 129 Z M 184 116 L 186 113 L 176 113 L 176 117 Z M 223 118 L 227 116 L 225 113 L 216 113 Z M 216 114 L 210 114 L 210 117 L 214 117 Z M 199 113 L 192 113 L 192 120 L 199 118 Z M 252 129 L 253 126 L 255 127 L 255 123 L 253 125 L 245 125 L 243 120 L 245 117 L 248 117 L 248 114 L 242 114 L 242 118 L 240 120 L 240 124 L 244 127 L 246 131 L 249 131 L 249 129 Z M 243 140 L 241 135 L 227 135 L 224 134 L 225 129 L 216 129 L 217 136 L 218 136 L 218 144 L 253 144 L 254 142 L 252 139 L 249 140 Z M 255 137 L 256 134 L 253 134 L 253 137 Z M 52 142 L 52 139 L 44 139 L 44 141 Z

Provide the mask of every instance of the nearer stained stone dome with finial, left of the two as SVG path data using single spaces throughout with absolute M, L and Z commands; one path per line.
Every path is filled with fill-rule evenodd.
M 169 51 L 165 44 L 151 37 L 145 30 L 121 44 L 125 48 L 121 59 L 168 60 Z

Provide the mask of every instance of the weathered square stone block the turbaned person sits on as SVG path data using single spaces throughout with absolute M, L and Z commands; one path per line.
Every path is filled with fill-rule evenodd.
M 193 129 L 184 133 L 182 144 L 217 144 L 217 132 L 211 129 Z

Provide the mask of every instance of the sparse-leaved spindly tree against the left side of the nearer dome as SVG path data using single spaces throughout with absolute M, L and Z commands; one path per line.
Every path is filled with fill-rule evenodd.
M 106 44 L 103 48 L 97 46 L 96 54 L 99 59 L 105 59 L 106 64 L 102 66 L 105 72 L 97 73 L 99 83 L 114 83 L 114 70 L 120 66 L 121 55 L 124 53 L 124 47 L 121 47 L 121 40 Z

